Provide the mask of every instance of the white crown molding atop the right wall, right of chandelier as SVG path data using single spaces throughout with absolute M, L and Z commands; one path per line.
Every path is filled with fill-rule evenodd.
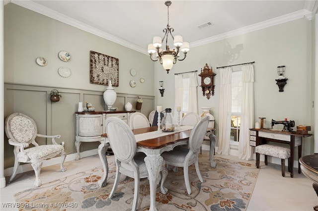
M 253 31 L 260 30 L 260 29 L 264 29 L 264 28 L 267 28 L 267 27 L 271 27 L 271 26 L 279 25 L 279 24 L 286 23 L 286 22 L 289 22 L 289 21 L 297 20 L 297 19 L 300 19 L 300 18 L 303 18 L 303 17 L 307 17 L 308 18 L 309 16 L 311 16 L 311 14 L 312 13 L 310 11 L 308 11 L 307 9 L 302 9 L 302 10 L 299 10 L 299 11 L 296 11 L 296 12 L 292 12 L 292 13 L 289 13 L 289 14 L 286 14 L 286 15 L 282 15 L 280 17 L 272 18 L 272 19 L 269 19 L 269 20 L 266 20 L 266 21 L 262 21 L 262 22 L 259 22 L 259 23 L 255 23 L 255 24 L 252 24 L 252 25 L 249 25 L 249 26 L 246 26 L 246 27 L 242 27 L 242 28 L 230 31 L 230 32 L 225 32 L 225 33 L 213 36 L 213 37 L 202 39 L 202 40 L 199 40 L 199 41 L 191 43 L 190 46 L 191 47 L 198 47 L 198 46 L 202 46 L 202 45 L 205 45 L 205 44 L 208 44 L 208 43 L 213 43 L 213 42 L 216 42 L 216 41 L 228 39 L 228 38 L 235 37 L 235 36 L 238 36 L 238 35 L 242 35 L 242 34 L 246 34 L 246 33 L 249 33 L 249 32 L 253 32 Z

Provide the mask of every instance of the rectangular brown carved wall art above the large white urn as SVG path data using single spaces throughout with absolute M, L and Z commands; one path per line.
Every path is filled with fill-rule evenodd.
M 108 80 L 118 87 L 119 59 L 90 51 L 90 80 L 91 84 L 108 85 Z

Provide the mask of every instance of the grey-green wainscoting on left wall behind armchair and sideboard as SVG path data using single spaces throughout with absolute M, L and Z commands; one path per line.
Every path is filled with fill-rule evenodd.
M 57 89 L 62 95 L 59 102 L 50 101 L 52 89 Z M 150 111 L 155 109 L 154 96 L 117 93 L 117 99 L 113 106 L 118 107 L 118 110 L 124 110 L 125 104 L 130 102 L 133 105 L 132 110 L 136 110 L 137 96 L 144 100 L 141 112 L 148 116 Z M 36 122 L 39 134 L 61 135 L 61 139 L 57 139 L 57 142 L 65 142 L 67 155 L 76 153 L 75 112 L 78 111 L 79 102 L 83 102 L 83 106 L 86 106 L 85 102 L 91 103 L 96 111 L 107 110 L 103 100 L 103 92 L 4 83 L 4 118 L 14 112 L 30 116 Z M 37 140 L 40 145 L 51 144 L 50 139 Z M 96 150 L 98 146 L 99 142 L 82 143 L 80 152 Z M 6 169 L 14 164 L 13 146 L 8 144 L 6 136 L 4 137 L 4 147 L 4 169 Z

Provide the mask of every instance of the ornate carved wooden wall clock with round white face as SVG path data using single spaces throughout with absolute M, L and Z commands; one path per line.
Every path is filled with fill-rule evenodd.
M 209 100 L 211 95 L 214 96 L 214 76 L 216 74 L 209 68 L 208 64 L 205 64 L 203 69 L 201 68 L 201 73 L 199 74 L 201 77 L 201 87 L 203 96 L 206 96 Z

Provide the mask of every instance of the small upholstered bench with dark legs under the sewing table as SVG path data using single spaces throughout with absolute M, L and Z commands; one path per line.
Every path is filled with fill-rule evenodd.
M 263 144 L 255 147 L 256 153 L 256 167 L 259 168 L 259 158 L 260 155 L 265 155 L 265 165 L 268 164 L 267 156 L 272 156 L 276 158 L 281 158 L 282 164 L 282 176 L 285 176 L 285 159 L 288 158 L 288 171 L 290 171 L 290 149 L 285 147 L 279 147 L 275 145 Z

